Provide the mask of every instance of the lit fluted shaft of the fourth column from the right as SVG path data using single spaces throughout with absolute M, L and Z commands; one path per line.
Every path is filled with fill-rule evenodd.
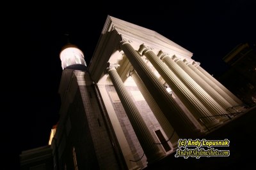
M 148 54 L 152 55 L 150 51 Z M 156 55 L 152 55 L 156 58 Z M 178 66 L 168 55 L 162 55 L 161 59 L 170 68 L 170 70 L 188 87 L 188 89 L 201 101 L 204 106 L 211 111 L 213 115 L 225 114 L 227 111 L 220 106 L 207 92 L 205 92 L 198 83 L 196 83 L 189 74 Z

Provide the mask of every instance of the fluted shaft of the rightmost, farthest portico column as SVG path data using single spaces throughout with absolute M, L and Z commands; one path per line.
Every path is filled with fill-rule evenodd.
M 232 92 L 230 92 L 225 86 L 223 86 L 218 80 L 216 80 L 214 77 L 212 77 L 207 71 L 205 71 L 202 67 L 198 66 L 197 69 L 201 71 L 207 78 L 211 79 L 218 87 L 220 87 L 224 92 L 228 94 L 228 96 L 232 97 L 234 101 L 236 101 L 237 104 L 242 104 L 243 102 L 238 99 Z

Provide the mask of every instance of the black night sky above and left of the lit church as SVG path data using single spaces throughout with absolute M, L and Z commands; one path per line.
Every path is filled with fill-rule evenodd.
M 12 59 L 8 59 L 10 67 L 4 69 L 2 97 L 7 102 L 3 104 L 1 125 L 4 164 L 8 168 L 19 169 L 22 150 L 47 145 L 51 127 L 58 121 L 62 71 L 59 54 L 67 42 L 65 33 L 84 52 L 89 64 L 106 17 L 111 15 L 154 30 L 193 52 L 192 59 L 214 76 L 225 70 L 221 59 L 230 50 L 239 43 L 255 43 L 253 0 L 145 3 L 134 7 L 120 4 L 108 6 L 108 10 L 106 6 L 35 8 L 8 21 L 12 29 L 5 36 Z

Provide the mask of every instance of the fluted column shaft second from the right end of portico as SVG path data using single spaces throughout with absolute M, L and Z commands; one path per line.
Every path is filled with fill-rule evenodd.
M 208 83 L 209 85 L 211 85 L 211 87 L 213 89 L 215 89 L 224 99 L 226 99 L 229 103 L 231 103 L 233 106 L 237 105 L 238 103 L 232 98 L 230 97 L 227 92 L 225 92 L 225 90 L 221 89 L 221 87 L 219 87 L 216 83 L 214 83 L 214 81 L 212 80 L 212 78 L 208 78 L 204 73 L 202 73 L 199 69 L 197 69 L 195 66 L 193 66 L 192 63 L 189 63 L 188 66 L 195 71 L 196 74 L 198 74 L 198 76 L 200 76 L 202 79 L 205 80 L 206 83 Z

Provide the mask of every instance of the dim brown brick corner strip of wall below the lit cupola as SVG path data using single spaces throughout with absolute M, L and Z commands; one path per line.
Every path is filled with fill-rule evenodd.
M 80 86 L 84 110 L 92 134 L 93 145 L 100 169 L 118 169 L 113 145 L 102 118 L 97 96 L 92 86 Z

